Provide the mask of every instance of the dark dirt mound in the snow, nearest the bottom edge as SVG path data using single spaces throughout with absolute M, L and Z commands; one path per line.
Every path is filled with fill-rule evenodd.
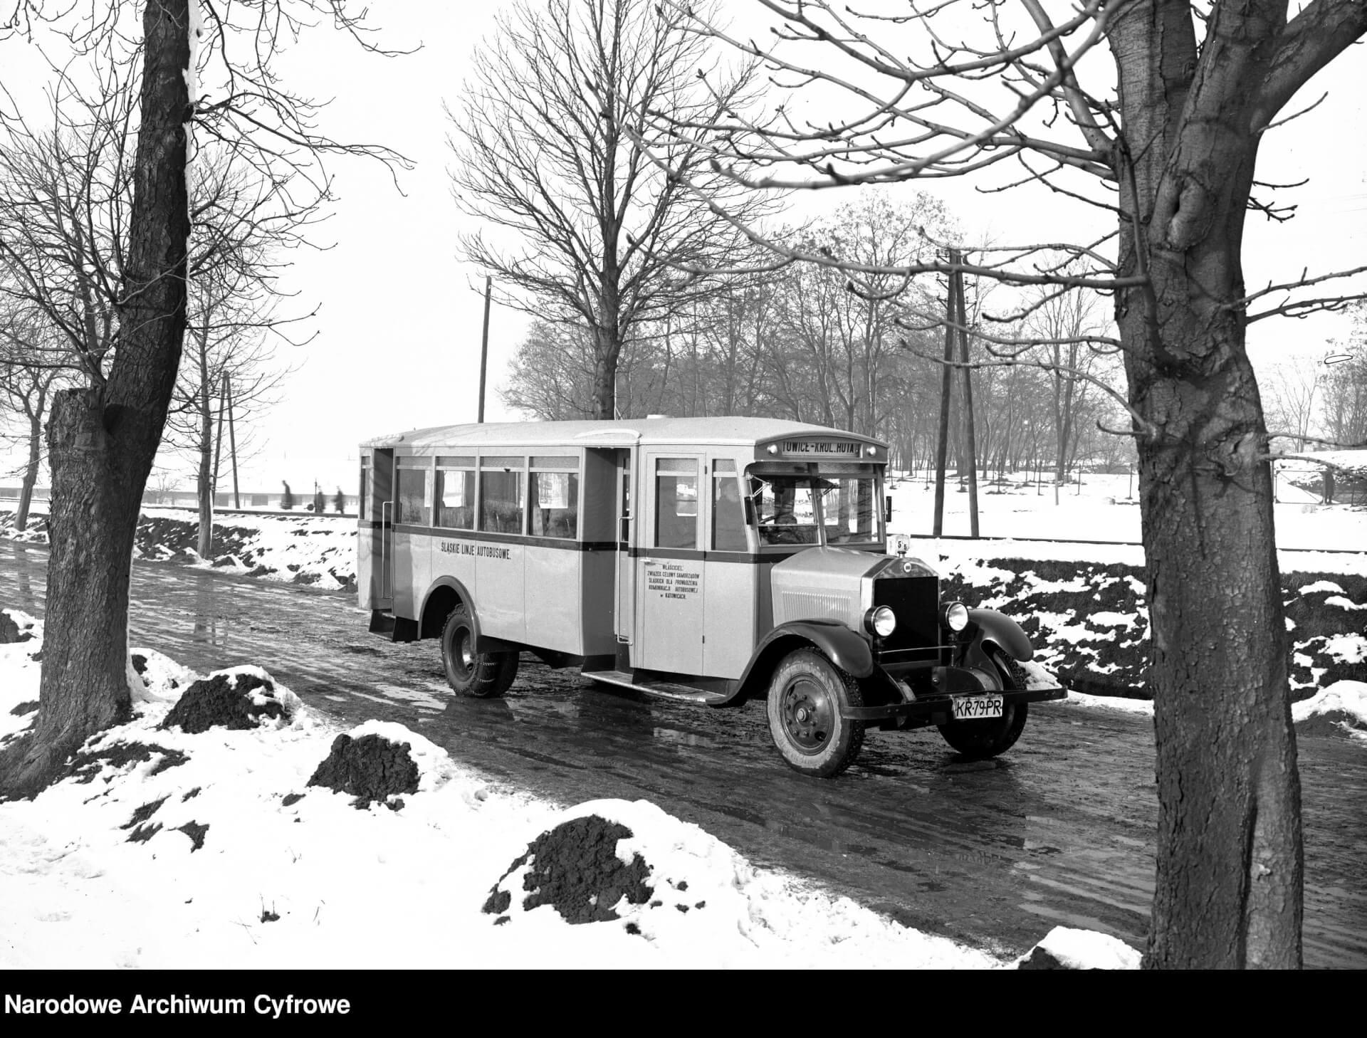
M 617 919 L 612 907 L 623 897 L 629 904 L 645 904 L 655 893 L 645 885 L 651 868 L 644 857 L 633 855 L 630 864 L 622 864 L 617 856 L 617 841 L 630 838 L 630 829 L 599 815 L 563 822 L 528 844 L 526 853 L 489 890 L 484 911 L 507 911 L 513 894 L 500 889 L 503 881 L 530 863 L 522 878 L 522 889 L 528 892 L 524 909 L 550 904 L 569 923 Z

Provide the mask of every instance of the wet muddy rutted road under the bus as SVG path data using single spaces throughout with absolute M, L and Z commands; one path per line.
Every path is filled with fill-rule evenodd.
M 46 551 L 0 542 L 0 606 L 42 614 Z M 455 758 L 573 804 L 647 799 L 753 862 L 899 922 L 998 952 L 1055 924 L 1144 946 L 1152 897 L 1152 722 L 1036 706 L 1005 758 L 966 763 L 934 729 L 871 733 L 838 780 L 804 778 L 763 704 L 645 699 L 524 661 L 499 700 L 454 699 L 435 643 L 366 633 L 354 598 L 168 563 L 134 568 L 133 641 L 201 671 L 258 663 L 350 723 L 405 723 Z M 1367 751 L 1300 740 L 1305 963 L 1367 967 Z

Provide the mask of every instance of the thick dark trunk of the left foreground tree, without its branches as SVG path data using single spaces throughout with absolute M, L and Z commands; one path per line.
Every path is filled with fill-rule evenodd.
M 119 338 L 103 387 L 56 395 L 48 603 L 31 736 L 0 758 L 0 788 L 40 789 L 89 736 L 131 714 L 128 577 L 138 506 L 185 335 L 186 0 L 146 0 L 141 130 Z

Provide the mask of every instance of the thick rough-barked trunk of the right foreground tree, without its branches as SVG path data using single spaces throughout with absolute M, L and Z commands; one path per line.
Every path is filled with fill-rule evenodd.
M 1158 745 L 1158 875 L 1147 967 L 1301 964 L 1300 778 L 1262 401 L 1239 306 L 1271 51 L 1217 8 L 1193 78 L 1185 4 L 1124 8 L 1111 30 L 1126 139 L 1117 293 L 1139 487 Z M 1229 18 L 1232 25 L 1225 25 Z M 1202 118 L 1180 119 L 1182 111 Z

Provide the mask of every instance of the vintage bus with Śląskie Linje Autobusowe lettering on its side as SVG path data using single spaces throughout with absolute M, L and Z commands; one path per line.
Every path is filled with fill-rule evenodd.
M 995 756 L 1065 693 L 1027 687 L 1014 621 L 886 554 L 886 443 L 768 418 L 381 436 L 361 444 L 361 606 L 375 633 L 440 639 L 468 696 L 502 695 L 530 652 L 658 696 L 761 696 L 807 774 L 848 767 L 868 728 Z

